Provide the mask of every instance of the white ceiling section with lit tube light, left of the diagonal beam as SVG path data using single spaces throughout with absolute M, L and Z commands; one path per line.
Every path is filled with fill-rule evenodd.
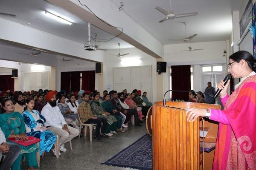
M 67 18 L 73 25 L 58 23 L 48 18 L 44 14 L 45 10 Z M 0 15 L 0 17 L 6 20 L 11 20 L 83 44 L 88 41 L 88 25 L 86 22 L 44 0 L 0 0 L 0 12 L 16 14 L 16 17 Z M 94 33 L 98 34 L 97 38 L 105 39 L 113 37 L 113 35 L 91 25 L 91 37 L 94 37 Z M 133 47 L 119 38 L 104 43 L 97 42 L 97 45 L 103 49 L 116 49 L 118 48 L 117 43 L 121 43 L 120 48 Z M 95 44 L 93 40 L 92 44 Z

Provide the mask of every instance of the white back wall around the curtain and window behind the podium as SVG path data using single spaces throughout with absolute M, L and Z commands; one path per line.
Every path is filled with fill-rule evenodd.
M 204 50 L 181 51 L 187 50 L 188 46 L 193 49 L 204 48 Z M 226 57 L 223 57 L 224 49 L 227 51 L 226 41 L 164 45 L 164 60 L 169 67 L 172 65 L 194 65 L 194 90 L 201 91 L 200 65 L 226 63 Z M 169 74 L 164 74 L 164 91 L 167 90 L 169 90 Z M 170 95 L 167 98 L 170 98 Z

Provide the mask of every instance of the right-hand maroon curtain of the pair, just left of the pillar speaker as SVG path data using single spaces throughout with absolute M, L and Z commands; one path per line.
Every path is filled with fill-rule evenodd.
M 95 90 L 95 71 L 82 72 L 82 89 L 85 91 Z

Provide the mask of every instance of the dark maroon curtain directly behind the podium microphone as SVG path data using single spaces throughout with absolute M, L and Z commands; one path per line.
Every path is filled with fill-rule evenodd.
M 189 91 L 190 90 L 190 65 L 175 65 L 172 66 L 172 90 Z M 189 93 L 172 92 L 172 100 L 189 99 Z

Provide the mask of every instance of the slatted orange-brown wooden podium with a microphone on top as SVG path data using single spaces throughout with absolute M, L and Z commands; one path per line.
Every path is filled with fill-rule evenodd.
M 148 111 L 147 129 L 153 136 L 153 170 L 199 170 L 199 129 L 201 120 L 188 122 L 187 108 L 220 109 L 220 105 L 192 102 L 155 102 Z M 206 127 L 207 126 L 207 127 Z M 215 142 L 218 123 L 205 121 L 208 129 L 205 142 Z M 152 131 L 151 131 L 152 130 Z M 204 169 L 212 169 L 214 150 L 205 153 Z

